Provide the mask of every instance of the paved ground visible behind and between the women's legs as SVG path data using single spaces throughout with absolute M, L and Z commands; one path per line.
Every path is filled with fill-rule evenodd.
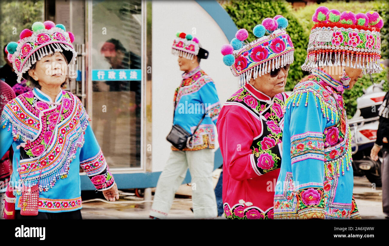
M 216 185 L 220 170 L 214 172 Z M 168 215 L 170 219 L 194 219 L 190 208 L 191 186 L 181 185 L 177 191 L 172 209 Z M 354 197 L 363 219 L 383 219 L 382 189 L 372 188 L 366 177 L 354 177 Z M 104 200 L 85 200 L 82 204 L 84 219 L 147 219 L 152 202 L 145 202 L 133 193 L 123 193 L 120 200 L 107 202 Z M 224 219 L 224 218 L 220 218 Z

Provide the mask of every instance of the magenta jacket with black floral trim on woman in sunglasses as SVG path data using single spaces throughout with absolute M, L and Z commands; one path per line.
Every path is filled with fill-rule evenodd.
M 228 219 L 273 219 L 286 98 L 270 98 L 246 83 L 221 109 L 217 133 Z

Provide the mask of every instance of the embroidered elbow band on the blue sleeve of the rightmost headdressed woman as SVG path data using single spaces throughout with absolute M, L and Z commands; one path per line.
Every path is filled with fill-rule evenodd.
M 291 163 L 307 159 L 324 161 L 322 132 L 305 132 L 291 137 Z

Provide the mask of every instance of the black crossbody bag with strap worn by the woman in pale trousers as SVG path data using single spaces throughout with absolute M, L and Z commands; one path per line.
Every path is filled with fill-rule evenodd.
M 174 105 L 173 121 L 174 121 L 176 105 L 177 105 L 177 102 L 175 102 L 175 105 Z M 185 147 L 188 147 L 189 149 L 193 149 L 193 142 L 192 142 L 192 148 L 191 148 L 191 147 L 189 147 L 189 141 L 192 139 L 193 135 L 196 133 L 197 128 L 200 126 L 200 124 L 202 123 L 202 121 L 206 115 L 207 115 L 207 112 L 203 115 L 200 122 L 197 124 L 196 129 L 193 132 L 193 134 L 187 132 L 180 125 L 175 124 L 175 125 L 173 125 L 172 130 L 170 130 L 170 133 L 167 135 L 166 140 L 179 150 L 182 150 Z

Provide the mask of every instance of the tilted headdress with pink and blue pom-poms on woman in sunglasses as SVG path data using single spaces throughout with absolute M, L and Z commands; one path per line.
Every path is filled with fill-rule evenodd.
M 222 46 L 223 62 L 230 67 L 234 76 L 240 77 L 241 86 L 251 78 L 256 79 L 270 70 L 293 63 L 294 47 L 285 31 L 287 25 L 287 19 L 281 15 L 266 18 L 253 29 L 258 39 L 247 42 L 249 33 L 246 29 L 240 29 L 230 44 Z M 266 36 L 265 33 L 270 35 Z

